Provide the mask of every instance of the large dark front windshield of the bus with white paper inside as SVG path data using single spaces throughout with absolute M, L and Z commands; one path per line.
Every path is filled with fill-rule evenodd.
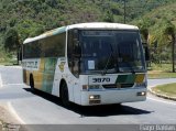
M 145 72 L 139 31 L 81 30 L 78 37 L 80 74 Z

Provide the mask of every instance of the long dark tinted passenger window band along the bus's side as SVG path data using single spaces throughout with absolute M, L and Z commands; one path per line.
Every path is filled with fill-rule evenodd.
M 66 33 L 50 36 L 23 45 L 23 57 L 59 57 L 65 56 Z

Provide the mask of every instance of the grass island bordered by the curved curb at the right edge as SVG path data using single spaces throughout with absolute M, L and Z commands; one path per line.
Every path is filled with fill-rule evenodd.
M 176 83 L 156 86 L 153 90 L 157 94 L 166 95 L 169 97 L 176 97 Z

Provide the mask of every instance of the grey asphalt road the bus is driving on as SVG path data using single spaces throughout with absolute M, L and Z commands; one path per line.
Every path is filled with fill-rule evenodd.
M 176 102 L 151 95 L 146 101 L 122 103 L 121 108 L 117 105 L 73 105 L 70 109 L 66 109 L 59 98 L 34 94 L 30 87 L 23 85 L 20 67 L 0 66 L 0 102 L 8 102 L 25 124 L 176 124 Z M 148 86 L 174 81 L 176 78 L 151 79 Z

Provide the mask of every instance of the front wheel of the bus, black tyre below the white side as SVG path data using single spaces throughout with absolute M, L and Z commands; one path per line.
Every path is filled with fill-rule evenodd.
M 64 107 L 70 106 L 69 97 L 68 97 L 68 88 L 65 81 L 61 86 L 61 99 L 62 99 Z

